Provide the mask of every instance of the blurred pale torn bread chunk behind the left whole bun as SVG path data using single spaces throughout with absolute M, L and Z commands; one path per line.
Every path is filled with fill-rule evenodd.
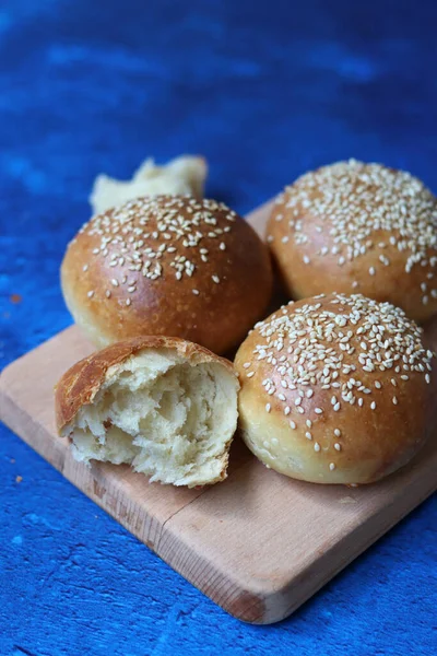
M 156 166 L 149 157 L 135 171 L 131 180 L 116 180 L 105 174 L 96 177 L 90 196 L 94 214 L 122 204 L 140 196 L 158 194 L 191 195 L 202 198 L 208 165 L 203 157 L 181 155 Z

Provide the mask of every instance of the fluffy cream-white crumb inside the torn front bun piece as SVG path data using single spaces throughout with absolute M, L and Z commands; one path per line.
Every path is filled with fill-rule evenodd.
M 197 485 L 221 478 L 237 421 L 233 375 L 147 350 L 107 374 L 68 426 L 76 460 L 129 464 L 151 481 Z

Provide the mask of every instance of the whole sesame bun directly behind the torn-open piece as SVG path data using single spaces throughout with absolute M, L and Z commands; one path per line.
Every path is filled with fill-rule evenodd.
M 168 335 L 225 353 L 265 311 L 270 255 L 215 200 L 157 196 L 92 219 L 67 250 L 62 291 L 97 347 Z

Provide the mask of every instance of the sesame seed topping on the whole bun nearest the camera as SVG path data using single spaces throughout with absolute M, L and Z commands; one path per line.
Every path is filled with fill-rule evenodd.
M 326 402 L 334 412 L 342 412 L 347 405 L 366 408 L 367 395 L 370 409 L 376 410 L 371 397 L 382 388 L 379 372 L 391 370 L 389 380 L 394 387 L 402 376 L 409 380 L 411 371 L 429 376 L 433 353 L 423 347 L 422 329 L 402 309 L 362 295 L 320 295 L 291 303 L 259 321 L 253 333 L 256 361 L 265 361 L 274 372 L 262 383 L 263 390 L 282 399 L 279 390 L 285 389 L 286 383 L 286 388 L 294 390 L 300 414 L 305 414 L 303 400 L 318 390 L 323 393 L 319 406 L 311 408 L 316 415 L 322 413 Z M 305 421 L 307 429 L 311 429 L 310 421 Z M 338 431 L 335 437 L 341 434 Z

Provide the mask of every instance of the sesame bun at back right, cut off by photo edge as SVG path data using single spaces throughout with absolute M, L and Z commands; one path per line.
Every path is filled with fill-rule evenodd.
M 415 177 L 355 160 L 286 187 L 267 241 L 292 298 L 333 291 L 437 311 L 437 202 Z

